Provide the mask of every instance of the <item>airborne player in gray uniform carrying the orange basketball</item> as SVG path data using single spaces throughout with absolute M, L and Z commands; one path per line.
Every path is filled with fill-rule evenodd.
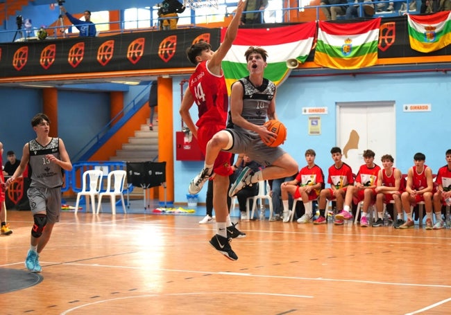
M 264 127 L 266 118 L 277 119 L 275 84 L 263 77 L 268 55 L 263 48 L 253 46 L 250 46 L 244 55 L 249 76 L 232 84 L 230 95 L 232 128 L 217 132 L 207 143 L 204 169 L 213 163 L 221 150 L 246 154 L 251 160 L 265 165 L 266 168 L 255 173 L 250 168 L 244 168 L 229 190 L 230 197 L 252 183 L 288 177 L 298 172 L 298 163 L 287 152 L 280 147 L 269 147 L 262 141 L 262 138 L 269 141 L 275 136 Z M 210 174 L 202 170 L 193 182 L 202 187 L 210 176 L 211 168 Z

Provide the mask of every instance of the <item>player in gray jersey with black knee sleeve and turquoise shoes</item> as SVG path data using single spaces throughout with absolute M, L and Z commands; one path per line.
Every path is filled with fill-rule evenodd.
M 72 163 L 62 139 L 49 136 L 49 117 L 37 114 L 31 125 L 36 138 L 24 145 L 20 165 L 6 181 L 6 186 L 22 175 L 29 162 L 31 184 L 27 195 L 34 224 L 25 266 L 31 272 L 40 272 L 39 254 L 49 242 L 53 225 L 60 220 L 62 170 L 72 170 Z

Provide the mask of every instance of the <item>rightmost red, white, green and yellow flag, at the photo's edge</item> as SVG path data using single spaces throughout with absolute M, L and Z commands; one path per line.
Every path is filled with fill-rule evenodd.
M 433 15 L 407 15 L 410 46 L 430 53 L 451 44 L 451 11 Z

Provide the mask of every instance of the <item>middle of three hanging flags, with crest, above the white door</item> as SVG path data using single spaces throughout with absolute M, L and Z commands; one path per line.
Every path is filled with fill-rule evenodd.
M 319 21 L 314 62 L 333 69 L 359 69 L 377 63 L 381 18 L 337 24 Z

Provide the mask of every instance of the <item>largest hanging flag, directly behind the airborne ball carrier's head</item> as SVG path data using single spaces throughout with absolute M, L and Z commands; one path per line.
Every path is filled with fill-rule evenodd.
M 223 42 L 226 28 L 221 30 Z M 312 50 L 316 33 L 316 21 L 294 26 L 274 28 L 240 28 L 237 38 L 222 62 L 226 84 L 230 93 L 233 82 L 249 75 L 244 52 L 249 46 L 259 46 L 268 52 L 264 77 L 280 84 L 289 75 L 287 60 L 305 62 Z

